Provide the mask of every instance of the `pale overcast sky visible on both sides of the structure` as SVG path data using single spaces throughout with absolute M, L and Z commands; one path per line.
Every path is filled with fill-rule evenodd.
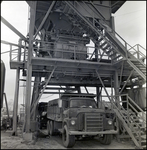
M 24 36 L 28 31 L 28 4 L 25 1 L 3 1 L 1 3 L 1 16 L 10 22 Z M 146 48 L 146 1 L 127 1 L 114 14 L 115 29 L 131 46 L 140 44 Z M 19 37 L 1 23 L 1 40 L 18 44 Z M 8 45 L 1 44 L 1 52 L 9 51 Z M 145 51 L 143 51 L 146 54 Z M 1 59 L 5 63 L 5 93 L 7 99 L 13 105 L 15 92 L 15 72 L 10 70 L 9 53 L 2 54 Z M 22 77 L 22 72 L 20 74 Z M 20 82 L 22 85 L 23 82 Z M 19 91 L 19 104 L 23 101 L 23 88 Z M 46 97 L 46 96 L 44 96 Z M 43 100 L 43 99 L 42 99 Z

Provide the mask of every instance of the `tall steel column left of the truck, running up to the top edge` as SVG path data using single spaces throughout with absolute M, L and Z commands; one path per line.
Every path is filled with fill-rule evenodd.
M 30 132 L 30 101 L 31 101 L 31 78 L 32 78 L 32 50 L 33 50 L 33 35 L 36 16 L 37 1 L 30 1 L 30 25 L 29 25 L 29 50 L 27 61 L 27 79 L 26 79 L 26 98 L 25 98 L 25 132 Z

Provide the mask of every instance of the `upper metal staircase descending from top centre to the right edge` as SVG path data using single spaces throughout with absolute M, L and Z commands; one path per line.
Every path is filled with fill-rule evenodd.
M 116 64 L 121 60 L 126 60 L 138 75 L 146 80 L 146 65 L 143 62 L 146 57 L 142 55 L 141 52 L 130 46 L 120 35 L 107 25 L 105 18 L 92 2 L 87 4 L 84 1 L 74 1 L 74 3 L 64 1 L 63 3 L 65 3 L 63 13 L 70 19 L 72 24 L 83 30 L 83 32 L 88 35 L 96 45 L 99 45 L 100 49 L 111 58 L 113 64 Z M 90 12 L 96 13 L 100 19 L 90 19 L 83 16 L 78 11 L 75 4 L 81 9 L 85 9 L 85 11 L 91 16 L 92 14 Z M 88 9 L 86 9 L 87 7 Z M 133 50 L 133 53 L 129 51 L 130 49 Z M 134 53 L 137 53 L 137 56 L 139 57 L 142 56 L 141 59 L 136 57 Z

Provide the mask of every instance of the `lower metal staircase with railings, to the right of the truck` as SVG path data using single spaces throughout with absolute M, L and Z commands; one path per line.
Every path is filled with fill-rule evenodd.
M 125 96 L 126 101 L 116 104 L 113 99 L 113 110 L 137 148 L 146 149 L 146 114 L 127 94 L 120 96 Z M 126 103 L 126 108 L 123 103 Z

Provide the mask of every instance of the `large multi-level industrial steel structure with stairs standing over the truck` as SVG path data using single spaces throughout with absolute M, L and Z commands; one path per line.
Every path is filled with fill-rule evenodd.
M 127 133 L 137 147 L 144 148 L 146 104 L 139 94 L 146 83 L 146 56 L 140 51 L 141 45 L 132 47 L 115 32 L 112 16 L 125 1 L 26 2 L 30 6 L 26 37 L 1 17 L 20 37 L 18 45 L 2 41 L 10 44 L 10 68 L 17 70 L 13 132 L 17 132 L 22 70 L 26 77 L 24 139 L 34 132 L 36 106 L 43 94 L 81 93 L 81 87 L 88 93 L 88 87 L 94 87 L 98 104 L 104 99 L 102 89 L 105 91 L 122 124 L 121 135 Z M 90 40 L 93 47 L 87 46 Z M 139 101 L 129 94 L 134 91 Z

